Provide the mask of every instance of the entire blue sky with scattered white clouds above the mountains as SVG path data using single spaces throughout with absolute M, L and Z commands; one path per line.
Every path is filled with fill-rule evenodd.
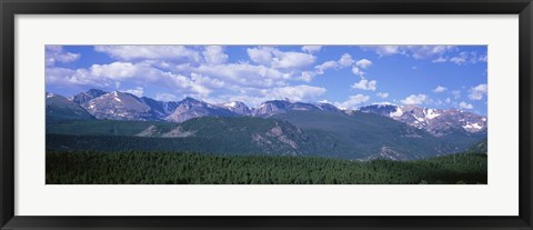
M 47 46 L 47 91 L 158 100 L 273 99 L 486 114 L 486 46 Z

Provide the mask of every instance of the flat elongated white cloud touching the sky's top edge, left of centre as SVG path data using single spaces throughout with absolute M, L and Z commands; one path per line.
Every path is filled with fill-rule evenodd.
M 184 46 L 95 46 L 94 50 L 123 61 L 141 59 L 200 61 L 198 51 Z

